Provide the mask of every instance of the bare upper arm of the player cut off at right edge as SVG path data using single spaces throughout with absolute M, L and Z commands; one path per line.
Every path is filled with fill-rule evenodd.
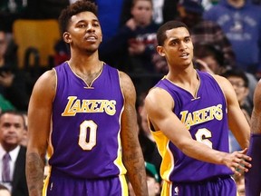
M 251 132 L 261 133 L 261 80 L 256 85 L 254 93 L 254 109 L 251 115 Z

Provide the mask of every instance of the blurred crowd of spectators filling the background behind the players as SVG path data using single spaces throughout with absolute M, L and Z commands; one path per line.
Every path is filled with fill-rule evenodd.
M 4 114 L 0 116 L 1 159 L 4 156 L 3 145 L 10 144 L 4 134 L 4 122 L 13 121 L 12 118 L 17 118 L 20 114 L 23 114 L 21 124 L 18 130 L 14 130 L 19 132 L 20 137 L 12 145 L 26 146 L 26 111 L 35 81 L 35 74 L 29 73 L 24 66 L 18 66 L 21 63 L 17 58 L 19 44 L 14 40 L 13 25 L 19 19 L 57 20 L 62 9 L 73 2 L 74 0 L 0 2 L 0 109 Z M 167 62 L 156 52 L 156 34 L 159 26 L 169 20 L 180 20 L 189 26 L 194 44 L 195 68 L 226 77 L 233 85 L 238 103 L 249 120 L 253 109 L 253 93 L 257 80 L 261 77 L 261 1 L 96 0 L 94 2 L 98 5 L 103 34 L 100 58 L 106 64 L 128 73 L 136 87 L 140 145 L 147 162 L 148 178 L 151 179 L 148 183 L 154 187 L 150 195 L 159 195 L 161 158 L 151 137 L 147 113 L 143 107 L 144 98 L 150 88 L 168 72 Z M 70 51 L 62 37 L 53 44 L 53 49 L 55 51 L 53 61 L 50 61 L 47 69 L 70 58 Z M 11 117 L 6 118 L 5 112 Z M 229 135 L 229 142 L 231 152 L 240 149 L 233 134 Z M 18 159 L 17 154 L 18 152 L 14 156 L 15 159 Z M 3 172 L 3 169 L 0 171 Z M 11 181 L 21 178 L 21 173 L 17 174 L 19 176 L 15 176 L 14 171 L 12 173 L 14 175 Z M 236 179 L 239 195 L 244 195 L 242 179 L 244 180 L 244 177 Z M 13 196 L 28 194 L 23 191 L 24 188 L 18 188 L 19 191 L 22 190 L 21 192 L 17 190 L 15 192 L 14 188 L 14 184 L 10 187 L 7 183 L 7 190 L 9 189 Z M 133 195 L 131 187 L 130 194 Z

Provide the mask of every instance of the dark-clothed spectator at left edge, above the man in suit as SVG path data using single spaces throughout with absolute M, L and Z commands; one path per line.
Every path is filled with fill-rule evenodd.
M 19 111 L 27 111 L 29 97 L 29 79 L 23 70 L 19 70 L 15 62 L 6 58 L 7 40 L 5 32 L 0 31 L 0 94 Z M 7 109 L 12 109 L 7 108 Z

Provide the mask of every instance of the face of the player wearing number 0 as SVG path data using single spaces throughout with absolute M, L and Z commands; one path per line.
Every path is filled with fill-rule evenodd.
M 68 32 L 63 34 L 65 42 L 71 48 L 78 48 L 89 53 L 97 51 L 102 42 L 102 28 L 96 15 L 92 12 L 82 12 L 73 15 Z

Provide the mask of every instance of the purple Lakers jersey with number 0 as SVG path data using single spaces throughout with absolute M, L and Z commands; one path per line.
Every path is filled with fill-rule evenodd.
M 51 169 L 82 179 L 125 174 L 120 139 L 124 100 L 118 70 L 103 64 L 90 86 L 67 62 L 54 70 Z

